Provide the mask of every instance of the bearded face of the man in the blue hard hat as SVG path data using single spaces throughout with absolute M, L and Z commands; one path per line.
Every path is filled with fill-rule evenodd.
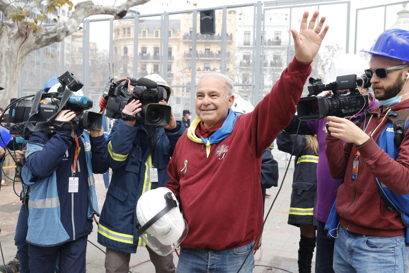
M 392 66 L 402 65 L 402 62 L 386 56 L 372 55 L 369 65 L 371 69 L 389 68 Z M 371 83 L 375 98 L 378 100 L 385 100 L 396 97 L 403 88 L 406 79 L 406 72 L 407 68 L 388 70 L 387 77 L 384 79 L 379 78 L 375 73 L 373 73 Z M 406 94 L 407 90 L 408 88 L 405 86 L 405 90 L 402 90 L 400 95 Z M 406 97 L 402 98 L 402 100 L 404 99 L 406 99 Z

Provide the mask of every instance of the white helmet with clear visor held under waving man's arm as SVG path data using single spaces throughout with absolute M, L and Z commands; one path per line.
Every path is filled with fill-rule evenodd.
M 166 187 L 142 194 L 136 205 L 139 237 L 157 254 L 166 256 L 186 238 L 189 230 L 175 195 Z

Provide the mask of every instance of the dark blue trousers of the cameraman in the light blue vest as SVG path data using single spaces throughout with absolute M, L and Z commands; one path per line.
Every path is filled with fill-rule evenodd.
M 29 244 L 31 273 L 54 273 L 58 253 L 59 269 L 63 273 L 85 273 L 87 238 L 82 237 L 58 246 L 35 246 Z

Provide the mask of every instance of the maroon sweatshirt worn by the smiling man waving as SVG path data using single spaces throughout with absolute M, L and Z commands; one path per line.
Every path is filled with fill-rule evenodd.
M 189 140 L 187 131 L 179 138 L 166 187 L 180 198 L 189 225 L 181 246 L 224 250 L 254 240 L 263 223 L 261 156 L 290 123 L 310 72 L 310 63 L 294 58 L 254 111 L 237 117 L 233 131 L 211 144 L 209 158 L 206 147 Z M 184 160 L 186 173 L 181 171 Z

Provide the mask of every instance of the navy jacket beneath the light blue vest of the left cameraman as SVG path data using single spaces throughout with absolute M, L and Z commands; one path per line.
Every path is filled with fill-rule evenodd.
M 98 208 L 93 208 L 95 192 L 90 192 L 88 167 L 92 165 L 92 172 L 103 174 L 108 170 L 107 142 L 103 135 L 88 137 L 85 142 L 81 134 L 86 134 L 83 129 L 76 129 L 79 139 L 79 152 L 76 166 L 76 177 L 79 178 L 78 192 L 69 193 L 69 178 L 72 176 L 76 141 L 71 131 L 57 131 L 55 135 L 43 132 L 34 132 L 30 135 L 29 144 L 40 145 L 43 148 L 27 156 L 25 167 L 32 174 L 25 183 L 45 183 L 44 178 L 51 177 L 55 172 L 58 199 L 60 205 L 60 220 L 63 228 L 72 241 L 89 235 L 92 231 L 92 215 L 88 215 L 89 208 L 98 214 Z M 91 162 L 87 162 L 85 153 L 91 151 Z M 34 187 L 34 186 L 33 186 Z M 50 187 L 50 186 L 49 186 Z M 96 200 L 96 199 L 95 199 Z M 31 214 L 31 212 L 30 212 Z M 29 223 L 29 228 L 31 227 Z M 65 241 L 61 242 L 64 243 Z

